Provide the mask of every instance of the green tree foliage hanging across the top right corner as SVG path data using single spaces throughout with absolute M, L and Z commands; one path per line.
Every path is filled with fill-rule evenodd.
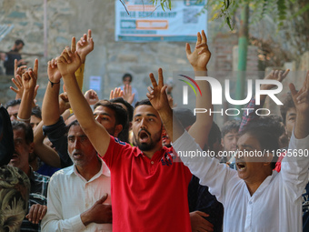
M 152 3 L 156 6 L 155 8 L 161 7 L 164 11 L 173 9 L 174 2 L 174 0 L 141 1 Z M 203 0 L 190 1 L 199 4 Z M 207 10 L 211 21 L 223 18 L 225 24 L 234 30 L 235 22 L 239 20 L 237 17 L 239 11 L 237 10 L 244 5 L 249 5 L 251 25 L 259 24 L 264 18 L 271 18 L 272 25 L 276 26 L 273 35 L 284 37 L 284 49 L 288 54 L 285 54 L 282 45 L 274 43 L 273 35 L 269 35 L 267 38 L 249 36 L 251 44 L 261 48 L 259 55 L 265 61 L 265 66 L 281 65 L 280 57 L 285 61 L 291 58 L 298 60 L 304 51 L 309 50 L 308 0 L 206 0 L 206 5 L 199 14 L 204 14 Z

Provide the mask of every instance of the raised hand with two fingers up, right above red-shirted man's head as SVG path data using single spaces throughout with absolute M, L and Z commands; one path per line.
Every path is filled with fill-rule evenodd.
M 151 105 L 154 107 L 154 109 L 156 109 L 157 111 L 160 111 L 166 106 L 169 107 L 169 103 L 168 103 L 168 99 L 167 99 L 167 95 L 165 91 L 167 86 L 164 86 L 162 68 L 159 68 L 158 75 L 159 75 L 158 83 L 156 83 L 154 74 L 151 73 L 149 75 L 153 87 L 149 86 L 147 88 L 149 93 L 147 93 L 146 96 L 150 100 Z

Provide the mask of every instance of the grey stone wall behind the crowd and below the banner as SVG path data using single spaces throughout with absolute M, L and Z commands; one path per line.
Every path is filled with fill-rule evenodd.
M 59 55 L 72 36 L 80 38 L 88 28 L 93 31 L 95 50 L 88 55 L 85 66 L 84 91 L 89 88 L 90 76 L 102 76 L 100 98 L 109 96 L 115 86 L 120 86 L 122 76 L 129 72 L 134 76 L 133 86 L 138 89 L 140 98 L 145 98 L 146 86 L 150 85 L 149 73 L 158 67 L 164 69 L 164 77 L 173 72 L 191 70 L 184 51 L 185 43 L 129 43 L 115 42 L 115 0 L 48 0 L 47 33 L 48 55 L 44 54 L 44 1 L 43 0 L 0 0 L 0 23 L 14 24 L 15 28 L 0 42 L 0 50 L 9 50 L 15 39 L 25 41 L 23 55 L 33 64 L 38 57 L 40 63 L 40 85 L 37 100 L 42 104 L 47 84 L 46 63 Z M 238 44 L 237 34 L 230 33 L 221 21 L 208 23 L 208 45 L 212 52 L 209 70 L 233 71 L 233 47 Z M 194 48 L 194 44 L 191 45 Z M 257 68 L 256 49 L 250 48 L 248 66 Z M 256 63 L 256 64 L 254 64 Z M 8 89 L 11 77 L 0 76 L 0 101 L 14 98 Z

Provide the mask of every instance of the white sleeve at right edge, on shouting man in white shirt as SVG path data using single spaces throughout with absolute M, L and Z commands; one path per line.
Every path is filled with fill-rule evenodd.
M 296 139 L 294 131 L 286 155 L 281 163 L 281 175 L 285 189 L 292 201 L 301 197 L 308 183 L 309 136 Z

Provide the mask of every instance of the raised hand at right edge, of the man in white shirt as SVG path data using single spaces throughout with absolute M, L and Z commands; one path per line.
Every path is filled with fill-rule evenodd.
M 296 91 L 294 84 L 289 85 L 297 114 L 309 114 L 309 71 L 304 79 L 304 84 L 299 91 Z

